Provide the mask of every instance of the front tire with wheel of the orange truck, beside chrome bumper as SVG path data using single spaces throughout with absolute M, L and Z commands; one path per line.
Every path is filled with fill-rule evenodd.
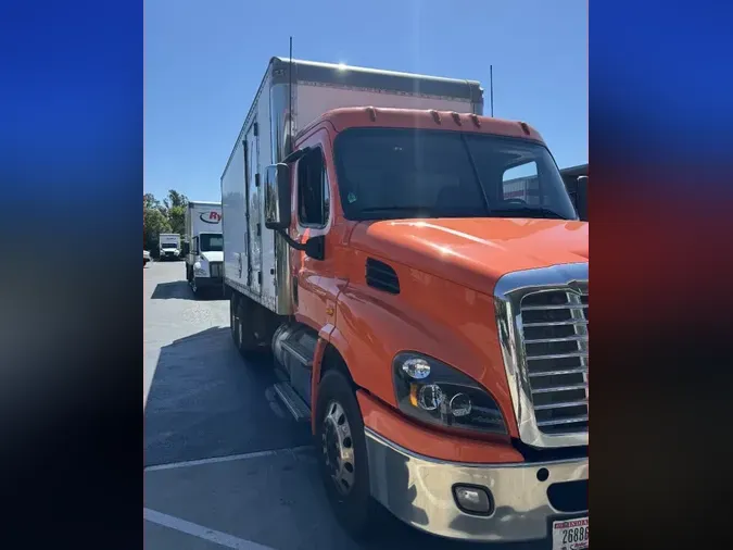
M 352 385 L 340 372 L 324 375 L 315 413 L 319 470 L 333 514 L 354 539 L 372 538 L 379 508 L 369 489 L 364 421 Z M 337 433 L 336 425 L 347 426 L 349 435 Z M 341 454 L 341 449 L 351 449 L 351 454 Z

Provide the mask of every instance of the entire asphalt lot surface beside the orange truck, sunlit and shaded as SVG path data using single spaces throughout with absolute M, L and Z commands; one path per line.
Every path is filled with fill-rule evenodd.
M 195 299 L 182 262 L 153 262 L 143 308 L 147 550 L 478 547 L 387 513 L 374 542 L 351 540 L 326 501 L 308 425 L 273 389 L 274 365 L 235 349 L 228 301 Z

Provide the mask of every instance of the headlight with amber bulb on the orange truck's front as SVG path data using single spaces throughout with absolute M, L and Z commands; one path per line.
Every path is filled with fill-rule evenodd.
M 479 383 L 428 355 L 399 353 L 392 363 L 397 407 L 443 427 L 506 434 L 496 401 Z

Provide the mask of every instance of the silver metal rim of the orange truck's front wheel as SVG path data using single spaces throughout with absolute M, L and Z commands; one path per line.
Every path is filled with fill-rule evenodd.
M 346 413 L 338 401 L 328 404 L 324 417 L 321 449 L 326 467 L 341 495 L 354 486 L 354 439 Z

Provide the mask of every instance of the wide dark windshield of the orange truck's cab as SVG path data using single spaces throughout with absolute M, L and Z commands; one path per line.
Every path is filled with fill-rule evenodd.
M 534 141 L 407 128 L 353 128 L 336 140 L 349 220 L 577 220 L 549 151 Z

